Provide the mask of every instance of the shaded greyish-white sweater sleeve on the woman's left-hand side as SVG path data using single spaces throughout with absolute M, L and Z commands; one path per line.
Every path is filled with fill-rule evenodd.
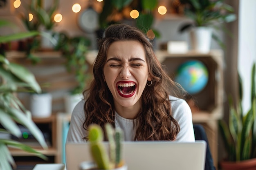
M 85 101 L 80 101 L 74 108 L 71 116 L 70 127 L 67 133 L 66 142 L 79 143 L 85 141 L 83 137 L 86 136 L 86 130 L 83 128 L 85 121 L 85 114 L 83 111 Z

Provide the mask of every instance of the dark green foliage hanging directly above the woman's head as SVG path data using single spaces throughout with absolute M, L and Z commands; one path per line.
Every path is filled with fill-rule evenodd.
M 139 17 L 136 19 L 136 26 L 147 33 L 152 29 L 154 22 L 153 12 L 156 9 L 158 0 L 104 0 L 102 12 L 99 15 L 99 25 L 101 29 L 106 26 L 121 22 L 123 19 L 127 19 L 124 15 L 124 9 L 130 6 L 130 9 L 136 9 L 139 11 Z M 121 16 L 115 18 L 115 15 Z M 128 18 L 130 19 L 130 18 Z M 155 37 L 159 37 L 160 33 L 152 29 Z

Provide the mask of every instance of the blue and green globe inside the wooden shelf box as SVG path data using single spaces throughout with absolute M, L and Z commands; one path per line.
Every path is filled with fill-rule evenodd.
M 209 73 L 207 67 L 198 60 L 182 63 L 176 71 L 174 80 L 189 94 L 199 93 L 207 85 Z

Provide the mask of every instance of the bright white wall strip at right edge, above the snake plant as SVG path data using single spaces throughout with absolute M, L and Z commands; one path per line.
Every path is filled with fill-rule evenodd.
M 256 61 L 256 0 L 240 0 L 238 22 L 238 72 L 243 80 L 244 112 L 251 107 L 251 70 Z

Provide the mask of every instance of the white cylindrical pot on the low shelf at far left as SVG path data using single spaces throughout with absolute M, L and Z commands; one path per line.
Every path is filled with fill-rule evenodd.
M 52 94 L 32 94 L 30 96 L 30 111 L 32 117 L 49 117 L 52 115 Z

